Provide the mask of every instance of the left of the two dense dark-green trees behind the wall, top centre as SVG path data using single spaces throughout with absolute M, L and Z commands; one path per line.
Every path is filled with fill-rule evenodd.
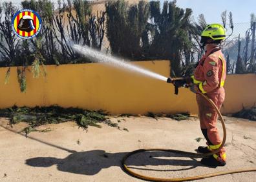
M 109 1 L 106 4 L 107 38 L 112 54 L 129 59 L 144 59 L 145 34 L 149 19 L 149 3 L 140 1 L 129 6 L 127 1 Z

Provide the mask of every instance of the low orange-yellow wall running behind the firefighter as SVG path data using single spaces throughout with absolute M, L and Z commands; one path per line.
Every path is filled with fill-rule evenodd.
M 135 65 L 169 76 L 169 61 L 141 61 Z M 195 94 L 181 88 L 176 96 L 171 84 L 101 63 L 47 66 L 47 78 L 35 79 L 27 71 L 27 92 L 21 93 L 16 67 L 4 84 L 7 68 L 0 68 L 0 108 L 17 106 L 80 107 L 110 114 L 197 113 Z M 256 102 L 256 75 L 233 75 L 226 80 L 222 112 L 237 112 Z

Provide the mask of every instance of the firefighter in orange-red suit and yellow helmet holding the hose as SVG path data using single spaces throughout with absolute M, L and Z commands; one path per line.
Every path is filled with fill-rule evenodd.
M 198 62 L 195 72 L 191 77 L 193 84 L 192 92 L 202 92 L 211 99 L 220 109 L 224 98 L 224 81 L 226 79 L 226 61 L 222 54 L 220 43 L 225 39 L 225 29 L 222 25 L 211 24 L 206 26 L 201 34 L 200 43 L 204 46 L 206 53 Z M 217 111 L 204 97 L 197 94 L 197 104 L 200 117 L 202 134 L 207 140 L 207 147 L 198 147 L 198 152 L 209 153 L 220 147 L 222 140 L 217 130 Z M 208 158 L 202 158 L 201 163 L 210 167 L 226 165 L 226 150 Z

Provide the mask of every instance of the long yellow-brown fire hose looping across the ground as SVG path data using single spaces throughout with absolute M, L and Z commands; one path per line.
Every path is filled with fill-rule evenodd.
M 204 95 L 202 93 L 198 93 L 198 94 L 200 94 L 202 97 L 204 97 L 215 108 L 215 110 L 217 110 L 217 113 L 218 113 L 218 116 L 220 118 L 222 128 L 223 128 L 223 139 L 222 139 L 222 143 L 221 143 L 220 147 L 216 150 L 213 150 L 212 152 L 209 152 L 208 154 L 197 154 L 194 152 L 186 152 L 186 151 L 182 151 L 182 150 L 162 149 L 162 148 L 149 148 L 149 149 L 134 150 L 133 152 L 128 153 L 122 159 L 122 168 L 125 172 L 127 172 L 128 174 L 131 174 L 131 176 L 138 177 L 139 179 L 144 179 L 147 181 L 165 181 L 166 182 L 166 181 L 191 181 L 191 180 L 204 179 L 207 177 L 214 177 L 214 176 L 220 176 L 220 175 L 225 175 L 225 174 L 256 171 L 256 168 L 248 168 L 248 169 L 239 169 L 239 170 L 229 170 L 226 172 L 215 172 L 215 173 L 211 173 L 211 174 L 203 174 L 200 176 L 191 176 L 191 177 L 182 177 L 182 178 L 159 178 L 159 177 L 150 177 L 150 176 L 144 176 L 142 174 L 138 174 L 138 173 L 134 172 L 133 170 L 131 170 L 129 167 L 127 167 L 127 165 L 125 165 L 125 161 L 130 156 L 133 156 L 134 154 L 138 154 L 140 152 L 145 152 L 145 151 L 174 152 L 174 153 L 178 153 L 178 154 L 186 154 L 187 156 L 191 156 L 191 157 L 195 157 L 195 158 L 203 158 L 203 157 L 211 156 L 211 155 L 219 152 L 220 149 L 224 146 L 224 144 L 226 142 L 227 134 L 226 134 L 226 126 L 224 123 L 224 119 L 222 117 L 222 114 L 220 113 L 219 108 L 215 105 L 215 103 L 213 103 L 213 101 L 211 99 L 209 99 L 206 95 Z

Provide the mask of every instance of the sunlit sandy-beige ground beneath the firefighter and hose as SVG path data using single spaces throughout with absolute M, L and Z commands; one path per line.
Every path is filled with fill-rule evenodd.
M 256 167 L 256 122 L 224 117 L 228 132 L 228 163 L 208 168 L 200 159 L 167 152 L 144 152 L 129 158 L 127 165 L 147 176 L 187 177 L 239 168 Z M 175 121 L 151 117 L 112 117 L 118 128 L 101 125 L 88 132 L 75 123 L 40 126 L 50 132 L 24 137 L 19 123 L 6 127 L 0 119 L 0 181 L 142 181 L 120 168 L 122 157 L 139 148 L 171 148 L 193 152 L 205 145 L 196 117 Z M 118 122 L 119 121 L 119 122 Z M 123 130 L 126 128 L 127 130 Z M 219 123 L 220 128 L 220 123 Z M 211 177 L 200 181 L 256 181 L 256 172 Z

